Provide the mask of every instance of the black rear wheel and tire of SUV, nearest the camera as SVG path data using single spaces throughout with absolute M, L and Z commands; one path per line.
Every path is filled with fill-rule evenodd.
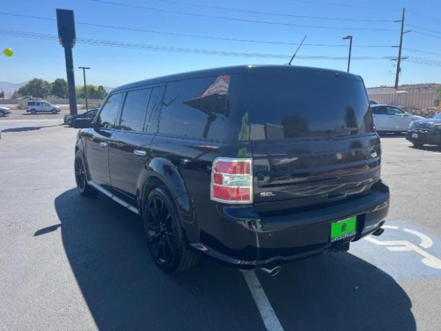
M 161 270 L 179 273 L 198 264 L 200 256 L 188 245 L 175 203 L 166 190 L 154 188 L 142 211 L 150 254 Z

